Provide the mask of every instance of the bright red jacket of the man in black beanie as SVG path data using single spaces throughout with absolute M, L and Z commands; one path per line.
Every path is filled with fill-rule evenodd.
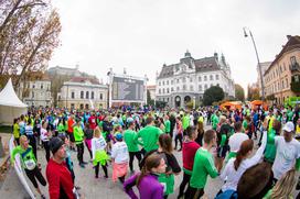
M 74 199 L 74 184 L 65 162 L 58 164 L 51 158 L 46 166 L 46 178 L 51 199 Z

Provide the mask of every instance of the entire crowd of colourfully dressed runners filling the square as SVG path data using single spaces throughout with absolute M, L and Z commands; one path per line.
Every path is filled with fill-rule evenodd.
M 178 198 L 205 195 L 207 177 L 224 185 L 210 198 L 293 198 L 300 188 L 300 109 L 260 107 L 221 110 L 78 111 L 30 109 L 13 121 L 15 148 L 24 172 L 36 188 L 49 185 L 49 196 L 79 198 L 77 163 L 93 164 L 104 177 L 119 181 L 130 198 L 160 199 L 174 195 L 174 176 L 182 174 Z M 45 157 L 38 157 L 38 148 Z M 90 159 L 84 159 L 87 151 Z M 77 154 L 77 161 L 71 154 Z M 182 165 L 176 154 L 182 153 Z M 46 179 L 38 159 L 45 158 Z M 135 168 L 135 159 L 138 168 Z M 38 181 L 36 181 L 38 180 Z M 137 187 L 139 194 L 135 192 Z M 299 195 L 297 197 L 300 197 Z

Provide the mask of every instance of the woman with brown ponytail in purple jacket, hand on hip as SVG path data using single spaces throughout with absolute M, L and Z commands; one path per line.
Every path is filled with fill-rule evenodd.
M 140 174 L 136 174 L 128 178 L 124 184 L 125 192 L 131 199 L 162 199 L 163 198 L 163 186 L 158 181 L 160 174 L 165 173 L 164 158 L 154 153 L 149 155 Z M 137 186 L 140 197 L 138 197 L 132 187 Z

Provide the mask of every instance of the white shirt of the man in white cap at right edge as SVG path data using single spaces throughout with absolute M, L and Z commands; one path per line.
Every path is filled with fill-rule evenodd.
M 290 170 L 296 159 L 300 158 L 300 142 L 292 139 L 286 142 L 283 136 L 275 136 L 276 156 L 272 164 L 274 178 L 280 179 L 283 174 Z

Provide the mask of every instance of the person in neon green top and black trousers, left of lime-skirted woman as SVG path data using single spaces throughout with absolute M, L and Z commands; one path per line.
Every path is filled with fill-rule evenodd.
M 76 119 L 76 125 L 73 128 L 73 133 L 77 147 L 77 159 L 79 162 L 79 166 L 85 168 L 85 164 L 87 163 L 84 162 L 84 131 L 81 119 Z

